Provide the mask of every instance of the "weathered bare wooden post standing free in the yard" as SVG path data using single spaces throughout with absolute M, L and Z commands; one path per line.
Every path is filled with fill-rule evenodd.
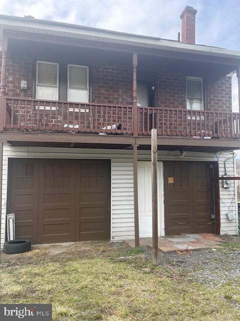
M 157 130 L 151 129 L 151 202 L 152 202 L 152 263 L 158 265 L 157 229 Z

